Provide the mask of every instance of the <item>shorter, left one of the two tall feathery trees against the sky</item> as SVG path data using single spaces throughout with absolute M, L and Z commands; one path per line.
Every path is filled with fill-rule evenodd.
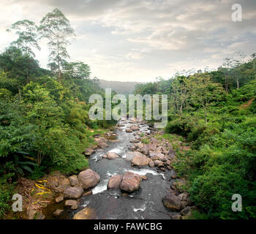
M 12 24 L 11 29 L 16 31 L 18 39 L 11 43 L 11 45 L 18 47 L 25 55 L 33 56 L 34 52 L 32 48 L 40 47 L 37 43 L 37 26 L 30 20 L 20 20 Z M 10 31 L 10 29 L 7 29 Z

